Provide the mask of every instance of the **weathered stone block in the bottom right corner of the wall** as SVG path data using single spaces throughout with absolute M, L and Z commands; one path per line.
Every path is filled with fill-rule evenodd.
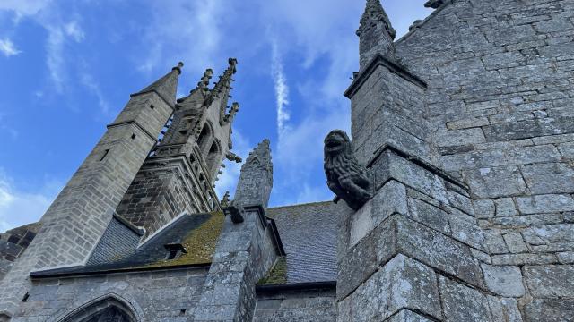
M 563 322 L 573 315 L 572 299 L 537 299 L 525 306 L 526 322 Z

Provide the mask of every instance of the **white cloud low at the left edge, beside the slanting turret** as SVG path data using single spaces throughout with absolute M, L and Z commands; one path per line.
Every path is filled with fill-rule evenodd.
M 61 184 L 47 182 L 41 191 L 18 191 L 0 169 L 0 232 L 37 222 L 60 189 Z

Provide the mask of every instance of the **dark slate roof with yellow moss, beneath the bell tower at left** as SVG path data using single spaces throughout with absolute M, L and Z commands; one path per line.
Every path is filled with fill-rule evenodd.
M 126 250 L 126 244 L 129 245 L 134 236 L 139 240 L 139 236 L 135 231 L 119 228 L 118 226 L 123 223 L 114 218 L 86 266 L 32 272 L 30 276 L 38 278 L 162 267 L 207 266 L 212 261 L 217 238 L 222 230 L 223 218 L 221 212 L 180 216 L 139 247 L 135 243 L 131 250 Z M 120 242 L 125 244 L 120 247 L 118 245 Z M 167 259 L 169 251 L 165 245 L 168 244 L 182 244 L 187 253 L 175 259 Z M 110 254 L 109 250 L 117 252 Z

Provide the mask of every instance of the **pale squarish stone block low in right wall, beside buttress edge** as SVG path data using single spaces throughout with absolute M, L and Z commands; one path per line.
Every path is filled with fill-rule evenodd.
M 506 297 L 524 296 L 522 274 L 518 267 L 482 265 L 484 281 L 491 292 Z

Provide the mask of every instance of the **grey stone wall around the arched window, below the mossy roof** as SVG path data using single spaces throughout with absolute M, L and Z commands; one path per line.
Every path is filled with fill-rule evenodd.
M 13 322 L 59 321 L 109 296 L 126 302 L 142 322 L 188 321 L 206 274 L 207 268 L 188 268 L 36 280 Z

